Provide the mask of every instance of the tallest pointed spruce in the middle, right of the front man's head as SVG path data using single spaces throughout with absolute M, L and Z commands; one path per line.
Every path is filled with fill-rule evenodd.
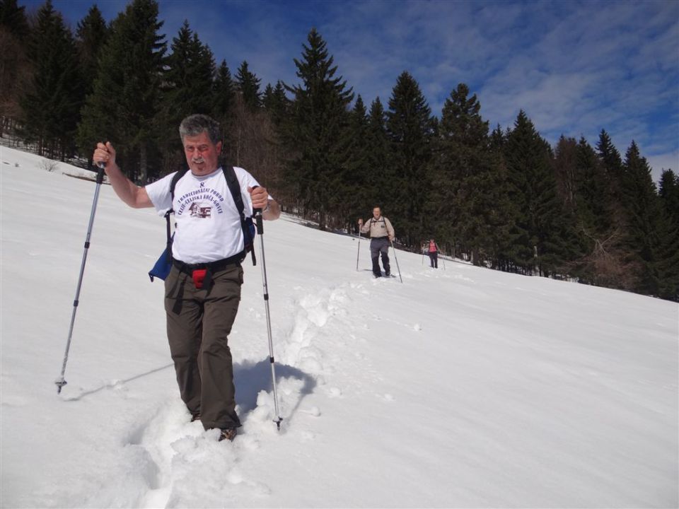
M 336 175 L 345 163 L 342 135 L 354 94 L 342 76 L 335 77 L 337 66 L 315 28 L 307 42 L 302 58 L 294 59 L 301 84 L 286 86 L 293 95 L 292 122 L 284 134 L 292 154 L 286 182 L 294 187 L 299 208 L 316 216 L 320 228 L 325 229 Z

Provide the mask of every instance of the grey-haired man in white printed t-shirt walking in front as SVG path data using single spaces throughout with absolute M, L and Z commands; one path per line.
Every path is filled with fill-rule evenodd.
M 219 440 L 233 440 L 236 414 L 233 363 L 228 334 L 240 302 L 245 257 L 240 215 L 219 165 L 219 124 L 207 115 L 182 120 L 180 136 L 187 171 L 170 196 L 171 173 L 145 187 L 125 177 L 115 163 L 115 149 L 97 144 L 94 163 L 104 163 L 115 193 L 134 208 L 175 211 L 173 267 L 165 281 L 170 353 L 182 400 L 204 428 L 219 428 Z M 234 168 L 245 215 L 253 208 L 262 218 L 279 218 L 280 207 L 265 187 L 243 168 Z

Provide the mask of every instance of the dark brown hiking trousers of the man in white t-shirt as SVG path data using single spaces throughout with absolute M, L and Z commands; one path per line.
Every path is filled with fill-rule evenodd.
M 203 427 L 236 428 L 236 390 L 228 334 L 240 303 L 243 268 L 227 266 L 212 274 L 209 291 L 172 267 L 165 281 L 170 353 L 182 401 L 200 412 Z

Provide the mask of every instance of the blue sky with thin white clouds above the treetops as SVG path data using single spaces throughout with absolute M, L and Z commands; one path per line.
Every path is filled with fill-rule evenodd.
M 42 1 L 19 0 L 35 10 Z M 127 1 L 53 0 L 72 27 L 97 4 L 107 20 Z M 235 73 L 294 84 L 315 27 L 338 74 L 366 105 L 385 105 L 402 71 L 434 115 L 467 83 L 491 127 L 526 111 L 555 144 L 595 145 L 605 129 L 622 156 L 637 141 L 658 180 L 679 170 L 679 1 L 160 0 L 171 42 L 183 21 Z

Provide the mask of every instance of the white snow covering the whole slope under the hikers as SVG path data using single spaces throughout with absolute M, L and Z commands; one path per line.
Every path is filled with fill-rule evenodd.
M 218 443 L 146 276 L 164 221 L 108 185 L 57 396 L 95 185 L 0 151 L 2 507 L 679 504 L 677 304 L 402 251 L 403 283 L 375 280 L 368 242 L 356 271 L 355 238 L 290 216 L 264 232 L 281 431 L 260 267 L 230 339 L 243 428 Z

